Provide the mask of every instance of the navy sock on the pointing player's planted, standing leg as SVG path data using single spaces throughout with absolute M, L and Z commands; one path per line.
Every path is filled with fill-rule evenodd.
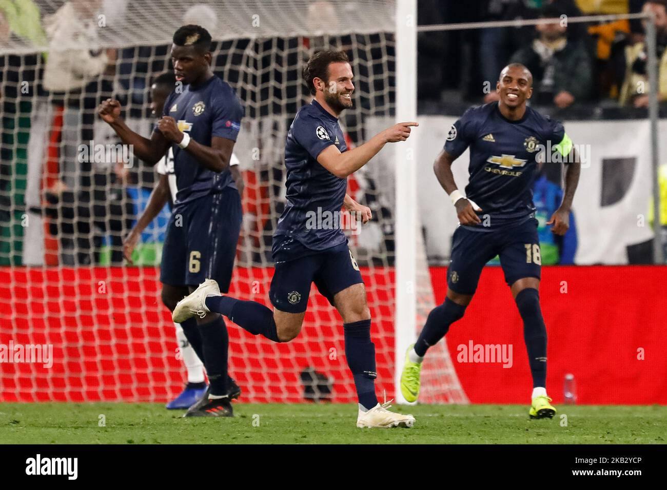
M 359 403 L 367 410 L 378 405 L 375 392 L 376 373 L 375 345 L 371 340 L 371 321 L 362 320 L 344 323 L 345 357 L 354 377 Z

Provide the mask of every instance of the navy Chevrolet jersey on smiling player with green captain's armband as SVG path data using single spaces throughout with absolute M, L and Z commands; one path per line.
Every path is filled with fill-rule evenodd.
M 532 185 L 538 175 L 540 145 L 567 155 L 572 142 L 560 121 L 530 107 L 522 119 L 510 121 L 493 102 L 468 109 L 454 123 L 444 148 L 458 157 L 470 147 L 466 197 L 482 208 L 477 213 L 482 223 L 468 228 L 492 231 L 534 213 Z

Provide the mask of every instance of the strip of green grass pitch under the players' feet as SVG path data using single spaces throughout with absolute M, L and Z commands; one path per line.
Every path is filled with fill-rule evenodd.
M 356 405 L 234 405 L 233 419 L 183 419 L 157 403 L 1 403 L 0 443 L 658 443 L 667 407 L 556 407 L 528 419 L 528 405 L 418 405 L 412 429 L 358 429 Z M 566 418 L 562 417 L 566 415 Z M 101 422 L 104 425 L 101 426 Z

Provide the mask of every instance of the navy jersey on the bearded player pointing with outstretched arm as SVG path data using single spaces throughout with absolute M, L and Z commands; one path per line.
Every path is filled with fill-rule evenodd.
M 340 227 L 340 211 L 348 180 L 336 177 L 317 162 L 317 155 L 331 145 L 341 153 L 348 149 L 338 118 L 313 100 L 299 109 L 287 133 L 287 203 L 273 237 L 274 260 L 276 252 L 289 247 L 292 240 L 313 251 L 347 240 Z

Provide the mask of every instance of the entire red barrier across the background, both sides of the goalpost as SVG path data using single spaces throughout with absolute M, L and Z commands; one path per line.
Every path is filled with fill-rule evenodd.
M 230 294 L 265 301 L 272 272 L 237 269 Z M 378 393 L 393 397 L 393 271 L 362 273 L 374 318 Z M 440 302 L 446 268 L 431 273 Z M 563 401 L 566 373 L 575 376 L 578 403 L 667 403 L 666 277 L 666 267 L 544 267 L 547 389 L 556 403 Z M 150 267 L 1 268 L 0 344 L 51 344 L 53 365 L 0 363 L 0 401 L 163 402 L 179 393 L 184 373 L 158 278 Z M 323 297 L 310 301 L 301 335 L 290 343 L 253 337 L 228 322 L 231 374 L 244 401 L 303 401 L 299 373 L 306 366 L 336 380 L 334 401 L 355 401 L 342 321 Z M 447 335 L 472 403 L 528 403 L 522 329 L 502 270 L 486 267 L 466 316 Z M 471 341 L 512 345 L 512 367 L 459 362 L 458 346 Z

